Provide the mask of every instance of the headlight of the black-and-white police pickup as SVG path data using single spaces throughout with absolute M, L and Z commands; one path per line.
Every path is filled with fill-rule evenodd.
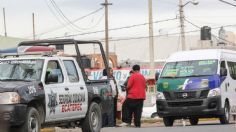
M 16 92 L 0 93 L 0 104 L 17 104 L 20 103 L 20 95 Z

